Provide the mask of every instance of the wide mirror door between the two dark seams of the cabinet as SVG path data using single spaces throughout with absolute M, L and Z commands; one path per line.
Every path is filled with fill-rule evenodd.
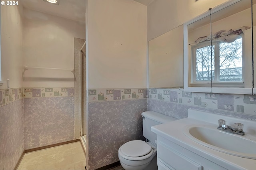
M 212 87 L 252 88 L 252 4 L 242 0 L 212 14 Z

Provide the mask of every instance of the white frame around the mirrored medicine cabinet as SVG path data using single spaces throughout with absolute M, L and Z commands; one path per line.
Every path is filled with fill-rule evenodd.
M 188 78 L 189 78 L 189 70 L 188 70 L 188 25 L 201 20 L 207 16 L 210 16 L 211 13 L 218 12 L 230 5 L 235 4 L 236 2 L 240 2 L 241 0 L 230 0 L 216 6 L 207 12 L 193 18 L 192 20 L 184 23 L 184 91 L 191 92 L 203 92 L 203 93 L 229 93 L 229 94 L 252 94 L 253 87 L 250 88 L 239 88 L 239 87 L 188 87 Z M 253 57 L 253 56 L 252 56 Z M 252 77 L 253 80 L 253 77 Z

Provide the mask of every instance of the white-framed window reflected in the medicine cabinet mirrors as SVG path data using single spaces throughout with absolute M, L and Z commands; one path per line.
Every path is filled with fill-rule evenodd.
M 243 36 L 233 42 L 203 42 L 192 46 L 191 86 L 244 87 Z

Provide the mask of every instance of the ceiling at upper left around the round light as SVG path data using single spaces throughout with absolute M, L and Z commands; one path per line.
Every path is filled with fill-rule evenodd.
M 43 0 L 22 0 L 25 8 L 85 22 L 85 0 L 60 0 L 59 5 L 54 5 Z

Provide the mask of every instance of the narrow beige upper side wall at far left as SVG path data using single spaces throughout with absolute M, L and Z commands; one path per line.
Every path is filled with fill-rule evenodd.
M 22 87 L 22 4 L 0 8 L 2 80 L 10 79 L 10 88 Z

